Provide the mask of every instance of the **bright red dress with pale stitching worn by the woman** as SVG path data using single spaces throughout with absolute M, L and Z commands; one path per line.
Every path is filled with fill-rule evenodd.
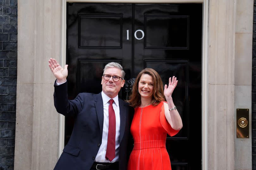
M 131 123 L 134 147 L 128 161 L 128 170 L 171 170 L 165 143 L 167 133 L 174 130 L 165 118 L 163 102 L 157 106 L 135 108 Z

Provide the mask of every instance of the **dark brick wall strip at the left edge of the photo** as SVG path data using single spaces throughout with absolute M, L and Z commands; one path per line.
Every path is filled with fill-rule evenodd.
M 17 0 L 0 0 L 0 170 L 14 167 Z

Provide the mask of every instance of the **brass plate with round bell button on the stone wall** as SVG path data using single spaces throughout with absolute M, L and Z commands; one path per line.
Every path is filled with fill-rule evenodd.
M 236 137 L 249 138 L 249 109 L 236 109 Z

